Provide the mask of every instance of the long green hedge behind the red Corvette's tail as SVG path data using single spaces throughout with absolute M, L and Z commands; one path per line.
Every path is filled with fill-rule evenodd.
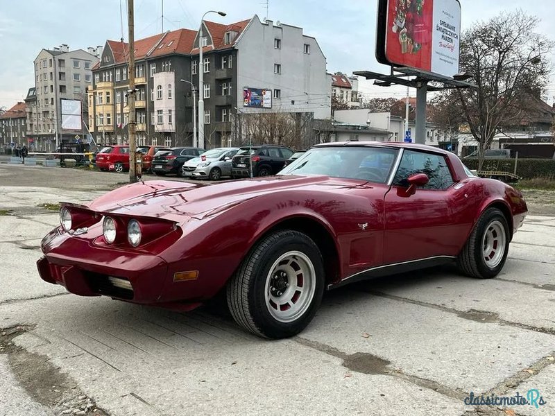
M 478 168 L 478 159 L 463 159 L 469 169 Z M 482 171 L 515 171 L 515 159 L 486 159 Z M 522 179 L 555 179 L 555 159 L 518 159 L 516 174 Z

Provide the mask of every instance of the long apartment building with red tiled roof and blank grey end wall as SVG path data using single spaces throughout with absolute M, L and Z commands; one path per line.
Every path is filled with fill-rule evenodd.
M 203 62 L 198 62 L 199 44 Z M 128 47 L 108 40 L 93 68 L 89 127 L 99 143 L 127 141 Z M 199 93 L 206 148 L 230 144 L 237 136 L 237 114 L 311 112 L 329 118 L 331 80 L 325 65 L 318 43 L 302 28 L 260 21 L 256 15 L 233 24 L 203 21 L 202 39 L 198 31 L 180 29 L 137 40 L 137 144 L 191 145 Z M 265 101 L 248 101 L 245 94 L 264 94 Z

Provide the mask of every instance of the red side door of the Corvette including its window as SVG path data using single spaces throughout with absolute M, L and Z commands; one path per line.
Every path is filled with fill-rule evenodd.
M 429 182 L 407 193 L 408 177 L 425 173 Z M 450 188 L 454 181 L 445 156 L 403 150 L 391 189 L 384 200 L 384 263 L 454 256 L 459 243 L 450 217 Z

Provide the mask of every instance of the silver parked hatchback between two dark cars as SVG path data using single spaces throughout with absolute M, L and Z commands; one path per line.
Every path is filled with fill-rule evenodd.
M 183 164 L 182 173 L 185 177 L 200 177 L 219 180 L 231 175 L 231 159 L 239 148 L 216 148 L 207 150 L 199 157 Z

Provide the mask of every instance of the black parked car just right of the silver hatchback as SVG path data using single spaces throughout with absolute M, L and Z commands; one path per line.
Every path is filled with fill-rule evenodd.
M 244 146 L 233 157 L 231 176 L 250 177 L 250 163 L 253 164 L 253 176 L 275 175 L 282 170 L 285 161 L 293 155 L 293 150 L 285 146 L 263 144 Z

